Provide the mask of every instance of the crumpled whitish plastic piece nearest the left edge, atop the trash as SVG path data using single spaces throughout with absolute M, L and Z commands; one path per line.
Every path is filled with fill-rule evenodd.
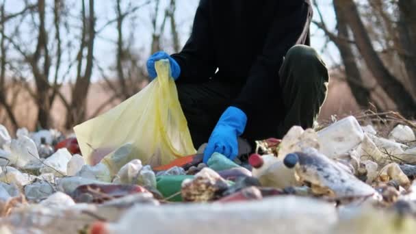
M 8 159 L 10 164 L 23 168 L 30 161 L 38 161 L 38 149 L 33 140 L 23 135 L 21 138 L 12 139 L 10 144 L 3 146 L 6 151 L 10 152 Z

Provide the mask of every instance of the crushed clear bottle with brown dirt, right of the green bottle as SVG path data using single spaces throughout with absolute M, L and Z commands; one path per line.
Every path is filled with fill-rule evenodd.
M 181 195 L 183 200 L 207 202 L 220 198 L 229 185 L 211 168 L 204 168 L 194 179 L 185 179 L 182 183 Z

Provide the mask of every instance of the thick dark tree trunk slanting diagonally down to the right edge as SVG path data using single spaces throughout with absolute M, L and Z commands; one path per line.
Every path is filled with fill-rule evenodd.
M 358 47 L 367 68 L 374 75 L 376 81 L 386 91 L 389 97 L 395 101 L 398 111 L 404 116 L 414 117 L 416 103 L 413 96 L 404 88 L 404 85 L 391 73 L 375 51 L 372 42 L 367 34 L 367 30 L 361 21 L 359 12 L 353 0 L 343 0 L 343 10 L 348 14 L 348 25 L 354 33 L 356 46 Z

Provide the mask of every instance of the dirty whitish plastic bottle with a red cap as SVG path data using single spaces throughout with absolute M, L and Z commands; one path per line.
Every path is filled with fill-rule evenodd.
M 285 188 L 300 185 L 294 170 L 285 167 L 283 159 L 274 155 L 252 154 L 248 161 L 252 166 L 252 176 L 259 179 L 264 187 Z

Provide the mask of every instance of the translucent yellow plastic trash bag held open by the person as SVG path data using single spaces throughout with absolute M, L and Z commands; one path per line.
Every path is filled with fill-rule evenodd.
M 196 153 L 168 60 L 156 62 L 157 79 L 105 114 L 74 127 L 88 164 L 125 144 L 134 158 L 160 166 Z

